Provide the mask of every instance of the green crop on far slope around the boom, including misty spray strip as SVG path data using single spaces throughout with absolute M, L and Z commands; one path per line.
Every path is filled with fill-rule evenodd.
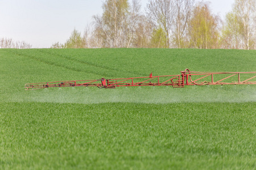
M 254 86 L 173 89 L 129 87 L 115 90 L 61 88 L 24 91 L 25 83 L 126 78 L 194 71 L 255 71 L 255 51 L 198 49 L 2 49 L 1 97 L 5 101 L 55 103 L 173 103 L 256 101 Z M 61 91 L 60 91 L 61 90 Z

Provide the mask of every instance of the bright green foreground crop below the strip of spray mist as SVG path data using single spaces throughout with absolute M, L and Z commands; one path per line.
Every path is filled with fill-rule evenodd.
M 1 169 L 254 169 L 255 103 L 1 103 Z

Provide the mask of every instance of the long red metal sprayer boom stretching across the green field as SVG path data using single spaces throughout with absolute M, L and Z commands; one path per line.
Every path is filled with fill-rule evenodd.
M 115 88 L 120 86 L 172 86 L 184 87 L 189 85 L 223 85 L 223 84 L 256 84 L 256 72 L 199 72 L 180 71 L 179 75 L 159 75 L 97 80 L 73 80 L 46 83 L 25 84 L 26 90 L 36 90 L 48 87 L 78 87 L 96 86 L 98 88 Z

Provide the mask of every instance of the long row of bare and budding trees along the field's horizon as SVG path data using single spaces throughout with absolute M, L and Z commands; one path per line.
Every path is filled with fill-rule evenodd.
M 225 20 L 209 2 L 105 0 L 103 14 L 93 15 L 84 34 L 51 48 L 199 48 L 256 49 L 256 1 L 235 0 Z

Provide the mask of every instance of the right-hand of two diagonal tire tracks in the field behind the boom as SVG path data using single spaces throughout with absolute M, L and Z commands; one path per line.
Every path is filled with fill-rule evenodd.
M 47 53 L 49 55 L 54 55 L 54 56 L 58 56 L 58 57 L 61 57 L 61 58 L 65 58 L 65 59 L 68 59 L 68 60 L 71 60 L 71 61 L 76 61 L 76 62 L 80 62 L 82 64 L 85 64 L 85 65 L 88 65 L 88 66 L 93 66 L 93 67 L 97 67 L 97 68 L 100 68 L 100 69 L 107 69 L 107 70 L 112 70 L 112 71 L 117 71 L 117 72 L 120 72 L 120 71 L 123 71 L 121 69 L 114 69 L 112 67 L 108 67 L 108 66 L 99 66 L 97 64 L 94 64 L 94 63 L 91 63 L 91 62 L 85 62 L 85 61 L 81 61 L 79 59 L 74 59 L 72 57 L 68 57 L 68 56 L 64 56 L 64 55 L 61 55 L 61 54 L 57 54 L 57 53 L 50 53 L 50 52 L 47 52 L 47 51 L 43 51 L 43 50 L 39 50 L 41 53 Z M 141 73 L 137 73 L 137 72 L 134 72 L 134 71 L 125 71 L 125 73 L 130 73 L 130 74 L 133 74 L 134 76 L 136 75 L 142 75 L 142 76 L 148 76 L 146 74 L 141 74 Z

